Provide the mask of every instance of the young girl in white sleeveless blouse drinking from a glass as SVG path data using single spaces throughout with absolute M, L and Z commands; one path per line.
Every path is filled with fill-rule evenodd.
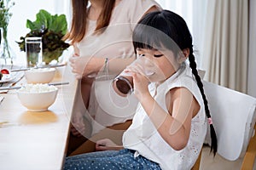
M 140 102 L 123 135 L 125 149 L 102 139 L 96 148 L 105 151 L 67 157 L 65 169 L 190 169 L 200 154 L 207 118 L 215 155 L 216 134 L 185 21 L 167 10 L 147 14 L 133 32 L 133 45 L 154 68 L 150 76 L 142 65 L 125 70 Z

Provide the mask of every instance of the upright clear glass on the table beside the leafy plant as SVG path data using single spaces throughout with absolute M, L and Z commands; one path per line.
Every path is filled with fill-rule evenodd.
M 26 37 L 26 66 L 34 67 L 40 65 L 43 56 L 42 37 Z

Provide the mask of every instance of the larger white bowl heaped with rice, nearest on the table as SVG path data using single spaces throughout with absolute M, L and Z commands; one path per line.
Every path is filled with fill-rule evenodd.
M 16 92 L 28 111 L 47 111 L 55 102 L 58 88 L 48 84 L 26 84 Z

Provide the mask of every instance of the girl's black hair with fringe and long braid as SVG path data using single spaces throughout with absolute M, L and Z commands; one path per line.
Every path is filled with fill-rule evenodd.
M 192 37 L 185 20 L 183 20 L 181 16 L 168 10 L 148 13 L 135 27 L 132 40 L 135 52 L 137 48 L 159 49 L 164 46 L 172 50 L 175 56 L 178 56 L 177 53 L 180 49 L 189 48 L 189 66 L 192 69 L 192 73 L 200 89 L 207 118 L 211 118 L 201 77 L 199 77 L 196 69 Z M 213 155 L 215 156 L 218 144 L 212 123 L 210 124 L 210 131 L 212 139 L 211 151 L 213 150 Z

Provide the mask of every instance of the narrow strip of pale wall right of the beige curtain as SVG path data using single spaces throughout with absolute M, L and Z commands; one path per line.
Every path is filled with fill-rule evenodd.
M 256 97 L 256 1 L 250 0 L 248 94 Z

